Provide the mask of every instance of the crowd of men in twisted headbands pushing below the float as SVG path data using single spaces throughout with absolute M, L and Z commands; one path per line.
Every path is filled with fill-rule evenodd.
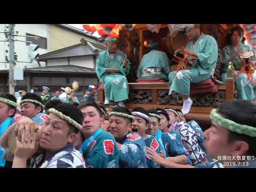
M 212 125 L 204 133 L 180 110 L 74 103 L 49 100 L 43 105 L 39 95 L 27 93 L 17 114 L 17 99 L 1 94 L 1 167 L 256 165 L 256 105 L 251 101 L 222 103 L 211 112 Z

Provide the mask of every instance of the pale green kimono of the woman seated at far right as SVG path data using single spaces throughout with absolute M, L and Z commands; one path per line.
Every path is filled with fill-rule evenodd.
M 225 46 L 222 49 L 222 74 L 221 79 L 223 83 L 227 82 L 227 69 L 229 66 L 229 61 L 232 55 L 237 54 L 240 51 L 253 51 L 252 47 L 249 45 L 239 44 L 238 50 L 234 49 L 232 46 Z M 256 55 L 253 56 L 254 64 L 256 62 Z M 234 61 L 234 67 L 236 71 L 239 71 L 242 67 L 242 62 L 237 57 Z M 254 73 L 255 74 L 255 73 Z M 254 75 L 254 85 L 256 85 Z M 237 99 L 254 99 L 256 97 L 256 92 L 254 91 L 254 85 L 252 85 L 245 74 L 241 74 L 238 77 L 235 77 L 236 89 L 237 89 Z

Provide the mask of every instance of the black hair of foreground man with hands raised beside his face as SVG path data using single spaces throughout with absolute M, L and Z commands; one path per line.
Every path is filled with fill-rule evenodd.
M 60 111 L 62 114 L 69 116 L 71 119 L 79 123 L 80 125 L 83 124 L 84 116 L 76 106 L 69 104 L 69 103 L 59 103 L 59 105 L 56 105 L 53 107 L 54 109 Z M 68 123 L 68 122 L 67 122 Z M 78 129 L 74 126 L 68 123 L 69 125 L 69 134 L 70 133 L 78 133 Z

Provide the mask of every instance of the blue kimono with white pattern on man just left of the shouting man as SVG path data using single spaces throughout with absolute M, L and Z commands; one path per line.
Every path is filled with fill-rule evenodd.
M 120 148 L 120 168 L 147 168 L 146 144 L 139 134 L 127 134 L 124 141 L 120 143 L 122 144 Z

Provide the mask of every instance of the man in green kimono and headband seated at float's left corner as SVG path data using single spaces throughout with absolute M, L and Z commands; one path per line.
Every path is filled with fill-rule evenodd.
M 119 39 L 106 39 L 108 49 L 103 51 L 97 60 L 96 73 L 104 85 L 105 104 L 111 101 L 119 102 L 124 107 L 128 99 L 129 87 L 126 75 L 130 71 L 130 61 L 124 52 L 117 50 Z

